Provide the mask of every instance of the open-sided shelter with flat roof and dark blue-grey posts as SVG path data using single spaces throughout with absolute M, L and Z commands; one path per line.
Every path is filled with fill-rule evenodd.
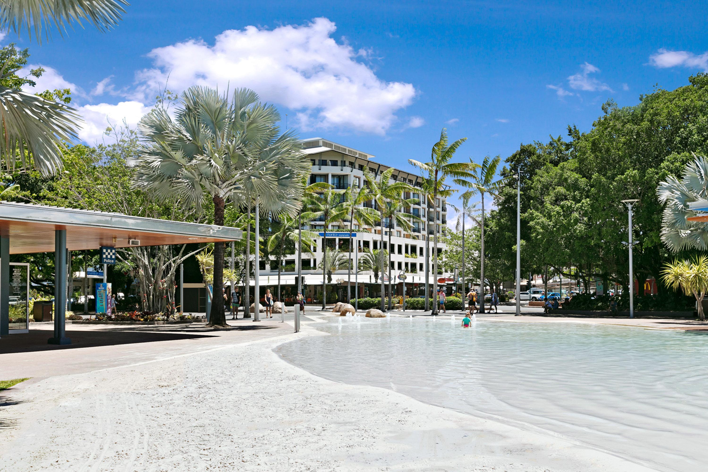
M 55 253 L 54 335 L 50 344 L 71 344 L 64 324 L 67 251 L 241 239 L 227 226 L 132 217 L 120 213 L 0 202 L 0 337 L 9 332 L 10 255 Z

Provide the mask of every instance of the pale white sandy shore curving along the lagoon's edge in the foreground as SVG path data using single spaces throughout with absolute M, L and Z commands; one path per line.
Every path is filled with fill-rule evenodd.
M 552 435 L 322 379 L 303 332 L 16 386 L 2 471 L 647 471 Z M 348 359 L 355 361 L 355 359 Z

